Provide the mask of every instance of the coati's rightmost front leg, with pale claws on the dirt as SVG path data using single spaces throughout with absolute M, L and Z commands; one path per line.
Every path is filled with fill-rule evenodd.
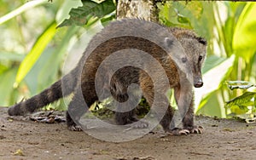
M 194 92 L 191 83 L 181 84 L 174 88 L 175 100 L 178 111 L 183 118 L 183 129 L 188 129 L 189 133 L 201 134 L 203 128 L 194 124 Z

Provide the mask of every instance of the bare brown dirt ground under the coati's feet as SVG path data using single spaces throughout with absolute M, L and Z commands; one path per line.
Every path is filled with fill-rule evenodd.
M 203 134 L 166 135 L 160 129 L 126 142 L 97 140 L 65 123 L 12 120 L 0 107 L 0 159 L 254 159 L 256 124 L 196 117 Z M 106 132 L 104 131 L 106 130 Z M 108 129 L 102 134 L 112 136 Z

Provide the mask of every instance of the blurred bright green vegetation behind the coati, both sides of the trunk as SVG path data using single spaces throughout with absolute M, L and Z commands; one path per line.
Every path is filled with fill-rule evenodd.
M 241 103 L 225 102 L 247 91 L 255 93 L 255 86 L 231 90 L 226 81 L 256 83 L 256 3 L 169 1 L 157 5 L 162 24 L 191 28 L 207 38 L 205 86 L 195 89 L 196 113 L 254 117 L 255 94 L 239 99 Z M 114 9 L 112 0 L 0 0 L 0 106 L 11 106 L 54 83 L 63 73 L 64 61 L 70 59 L 67 54 L 79 57 L 83 52 L 73 48 L 77 39 L 88 37 L 88 41 L 114 19 Z M 86 42 L 82 46 L 85 49 Z M 60 102 L 54 106 L 65 109 Z

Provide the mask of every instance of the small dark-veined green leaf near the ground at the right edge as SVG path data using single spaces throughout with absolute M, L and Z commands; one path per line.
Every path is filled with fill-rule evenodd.
M 256 92 L 246 92 L 240 96 L 226 102 L 226 106 L 253 106 L 253 98 Z

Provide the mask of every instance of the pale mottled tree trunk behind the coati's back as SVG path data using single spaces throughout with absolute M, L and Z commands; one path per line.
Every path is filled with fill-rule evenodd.
M 117 19 L 138 18 L 158 21 L 158 9 L 155 0 L 119 0 L 116 14 Z

